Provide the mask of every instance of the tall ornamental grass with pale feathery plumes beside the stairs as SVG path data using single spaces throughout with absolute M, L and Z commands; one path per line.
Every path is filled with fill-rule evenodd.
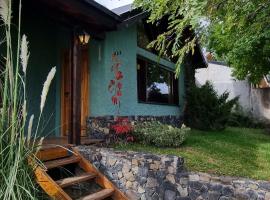
M 26 76 L 30 53 L 27 37 L 21 36 L 21 0 L 18 16 L 15 26 L 12 24 L 11 0 L 0 0 L 0 31 L 5 33 L 4 38 L 0 38 L 0 50 L 4 53 L 0 59 L 3 60 L 0 62 L 1 200 L 41 199 L 28 158 L 35 155 L 43 141 L 43 138 L 38 138 L 39 122 L 56 72 L 55 67 L 52 68 L 44 83 L 40 114 L 35 121 L 34 115 L 27 113 Z M 17 31 L 15 38 L 11 36 L 14 31 Z

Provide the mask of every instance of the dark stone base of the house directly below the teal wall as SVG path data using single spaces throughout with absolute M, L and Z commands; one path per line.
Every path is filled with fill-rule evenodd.
M 133 124 L 143 121 L 159 121 L 164 124 L 180 127 L 182 117 L 168 116 L 121 116 L 128 118 Z M 89 117 L 87 119 L 87 134 L 93 139 L 105 139 L 110 132 L 110 127 L 115 123 L 114 116 Z

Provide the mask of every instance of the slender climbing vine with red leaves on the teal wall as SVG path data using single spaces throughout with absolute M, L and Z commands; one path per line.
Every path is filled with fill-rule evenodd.
M 119 59 L 119 55 L 121 55 L 121 51 L 115 51 L 112 53 L 112 67 L 111 72 L 114 75 L 114 79 L 110 80 L 108 85 L 108 90 L 112 94 L 111 101 L 112 104 L 117 107 L 117 114 L 120 114 L 120 105 L 121 105 L 121 96 L 122 96 L 122 79 L 123 73 L 120 71 L 120 67 L 122 65 L 121 60 Z

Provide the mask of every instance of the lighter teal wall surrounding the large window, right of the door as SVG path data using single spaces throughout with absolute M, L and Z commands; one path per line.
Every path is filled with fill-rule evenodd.
M 174 64 L 158 59 L 154 54 L 137 47 L 136 26 L 122 28 L 106 34 L 104 41 L 90 42 L 90 115 L 104 116 L 116 114 L 116 107 L 111 103 L 108 83 L 113 78 L 111 72 L 111 54 L 121 51 L 121 71 L 124 74 L 123 96 L 121 98 L 120 115 L 181 115 L 184 96 L 184 78 L 179 78 L 180 106 L 153 105 L 138 103 L 136 57 L 142 55 L 150 60 L 158 61 L 174 70 Z

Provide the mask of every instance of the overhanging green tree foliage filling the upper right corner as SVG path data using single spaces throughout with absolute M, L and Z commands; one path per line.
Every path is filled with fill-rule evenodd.
M 270 1 L 268 0 L 135 0 L 150 13 L 149 22 L 168 16 L 169 27 L 149 46 L 160 54 L 172 47 L 177 72 L 196 40 L 226 61 L 238 79 L 257 83 L 270 72 Z M 184 31 L 195 30 L 183 40 Z

